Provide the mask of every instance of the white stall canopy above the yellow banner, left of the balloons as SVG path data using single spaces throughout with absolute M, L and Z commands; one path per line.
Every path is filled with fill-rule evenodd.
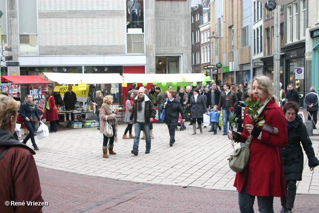
M 123 83 L 124 78 L 119 73 L 55 73 L 44 72 L 51 81 L 58 84 L 111 84 Z

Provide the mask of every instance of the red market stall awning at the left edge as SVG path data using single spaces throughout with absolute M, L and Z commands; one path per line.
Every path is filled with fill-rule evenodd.
M 1 76 L 2 83 L 16 83 L 16 84 L 53 84 L 51 81 L 47 81 L 38 75 L 13 75 L 13 76 Z

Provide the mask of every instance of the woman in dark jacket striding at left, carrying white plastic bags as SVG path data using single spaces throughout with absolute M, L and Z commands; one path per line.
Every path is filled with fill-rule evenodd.
M 29 131 L 29 134 L 23 139 L 23 144 L 31 139 L 31 143 L 34 150 L 39 150 L 34 140 L 34 129 L 35 129 L 35 117 L 39 120 L 39 123 L 42 124 L 41 118 L 38 113 L 38 107 L 35 103 L 34 97 L 31 94 L 28 94 L 25 97 L 25 101 L 22 104 L 20 109 L 20 116 L 24 119 L 24 126 Z M 2 115 L 1 115 L 2 117 Z

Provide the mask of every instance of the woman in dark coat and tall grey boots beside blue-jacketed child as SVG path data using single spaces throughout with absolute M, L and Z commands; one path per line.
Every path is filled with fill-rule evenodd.
M 204 114 L 207 111 L 206 110 L 206 104 L 205 100 L 202 95 L 199 94 L 199 90 L 193 89 L 194 95 L 191 96 L 190 102 L 187 105 L 188 107 L 191 107 L 191 117 L 192 117 L 192 124 L 193 124 L 193 133 L 192 135 L 196 134 L 196 119 L 197 119 L 197 124 L 199 127 L 200 133 L 203 133 L 201 129 L 201 123 L 203 122 Z

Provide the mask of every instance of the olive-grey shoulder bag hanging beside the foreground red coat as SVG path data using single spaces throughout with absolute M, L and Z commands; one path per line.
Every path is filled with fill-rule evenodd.
M 232 171 L 240 173 L 247 167 L 250 156 L 249 147 L 251 144 L 251 139 L 252 135 L 249 136 L 244 146 L 236 149 L 230 158 L 227 159 L 229 161 L 229 168 Z

